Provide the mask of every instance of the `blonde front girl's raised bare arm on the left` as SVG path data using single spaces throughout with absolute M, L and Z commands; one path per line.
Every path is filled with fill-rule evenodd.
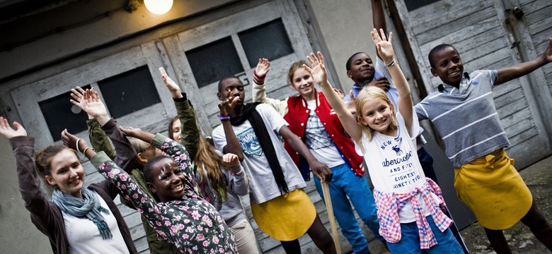
M 355 116 L 350 113 L 347 106 L 345 106 L 345 102 L 343 102 L 338 93 L 333 90 L 330 81 L 328 81 L 328 74 L 326 73 L 326 66 L 324 66 L 324 57 L 322 53 L 318 52 L 318 57 L 316 57 L 314 53 L 311 53 L 310 56 L 306 56 L 306 59 L 311 63 L 311 67 L 304 66 L 304 68 L 311 73 L 314 82 L 322 88 L 322 92 L 335 111 L 335 114 L 338 114 L 339 121 L 343 124 L 345 131 L 347 131 L 355 142 L 360 144 L 362 130 L 357 120 L 355 120 Z

